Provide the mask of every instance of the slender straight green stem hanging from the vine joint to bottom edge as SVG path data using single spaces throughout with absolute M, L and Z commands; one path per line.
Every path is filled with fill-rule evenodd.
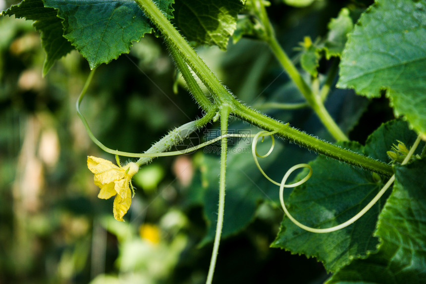
M 230 107 L 225 104 L 220 109 L 220 133 L 226 135 L 228 132 L 228 117 Z M 210 260 L 209 273 L 207 275 L 206 284 L 213 281 L 214 268 L 216 266 L 217 253 L 219 251 L 220 237 L 222 235 L 223 215 L 225 212 L 225 177 L 226 177 L 226 152 L 228 148 L 227 138 L 220 141 L 220 177 L 219 177 L 219 207 L 217 210 L 216 233 L 214 236 L 212 258 Z

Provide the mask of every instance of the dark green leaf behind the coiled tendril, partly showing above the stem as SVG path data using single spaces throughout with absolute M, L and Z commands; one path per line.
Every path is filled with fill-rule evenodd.
M 373 158 L 382 159 L 392 143 L 396 142 L 394 137 L 410 144 L 416 134 L 409 130 L 405 122 L 397 120 L 377 129 L 365 147 L 356 144 L 347 146 L 353 150 L 368 152 Z M 294 189 L 286 201 L 290 214 L 310 227 L 328 228 L 349 220 L 383 186 L 383 181 L 370 172 L 348 167 L 322 156 L 312 162 L 311 166 L 311 179 Z M 354 224 L 328 234 L 304 231 L 284 217 L 272 246 L 317 257 L 328 271 L 336 271 L 353 258 L 365 257 L 376 249 L 378 239 L 373 237 L 373 231 L 386 197 L 385 194 Z

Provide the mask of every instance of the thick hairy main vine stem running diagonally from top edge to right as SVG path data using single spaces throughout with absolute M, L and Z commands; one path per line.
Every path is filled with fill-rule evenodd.
M 277 135 L 320 154 L 324 154 L 331 158 L 335 158 L 382 175 L 391 176 L 393 174 L 392 168 L 385 163 L 321 141 L 320 139 L 284 125 L 281 122 L 269 118 L 266 115 L 243 105 L 235 99 L 235 97 L 231 95 L 223 85 L 221 85 L 209 67 L 197 55 L 194 49 L 189 46 L 185 39 L 183 39 L 183 37 L 177 32 L 173 25 L 170 24 L 160 9 L 151 0 L 135 1 L 164 35 L 165 40 L 170 42 L 170 46 L 178 50 L 178 52 L 182 55 L 182 58 L 202 80 L 203 84 L 209 88 L 215 102 L 218 105 L 222 105 L 224 103 L 228 104 L 231 108 L 231 114 L 234 114 L 235 116 L 238 116 L 243 120 L 267 131 L 279 129 Z

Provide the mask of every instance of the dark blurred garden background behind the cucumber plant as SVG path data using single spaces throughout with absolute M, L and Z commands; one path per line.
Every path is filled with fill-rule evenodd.
M 319 2 L 305 9 L 280 5 L 270 11 L 283 27 L 277 33 L 286 39 L 283 43 L 292 56 L 297 56 L 293 47 L 304 36 L 323 35 L 329 18 L 343 6 Z M 0 9 L 11 4 L 0 0 Z M 225 85 L 250 105 L 301 101 L 262 43 L 242 39 L 231 42 L 227 52 L 216 47 L 198 51 Z M 75 111 L 89 66 L 73 51 L 43 77 L 44 59 L 31 21 L 0 18 L 0 283 L 204 283 L 212 251 L 205 208 L 212 207 L 214 216 L 217 198 L 213 194 L 206 205 L 199 194 L 206 181 L 207 187 L 217 188 L 217 153 L 201 150 L 143 166 L 134 177 L 136 196 L 126 222 L 114 220 L 113 198 L 97 198 L 99 189 L 86 165 L 88 155 L 111 161 L 114 157 L 90 141 Z M 320 67 L 326 70 L 328 64 L 321 62 Z M 333 92 L 333 115 L 346 130 L 356 129 L 355 124 L 345 124 L 348 116 L 340 113 L 358 121 L 353 117 L 362 119 L 360 109 L 368 102 L 350 91 Z M 342 109 L 345 105 L 358 107 Z M 176 75 L 162 40 L 150 35 L 135 43 L 129 55 L 98 68 L 81 109 L 101 142 L 129 152 L 145 151 L 167 131 L 202 115 Z M 265 111 L 330 139 L 309 109 Z M 234 120 L 230 129 L 251 128 Z M 367 134 L 360 130 L 351 135 L 362 142 Z M 202 140 L 203 133 L 197 138 Z M 280 178 L 283 168 L 315 157 L 298 146 L 281 144 L 276 159 L 267 164 L 272 177 Z M 252 158 L 245 154 L 230 159 L 229 171 Z M 241 185 L 258 190 L 247 177 L 231 173 L 227 190 Z M 277 191 L 265 182 L 258 185 L 266 192 L 268 187 Z M 327 274 L 315 259 L 269 248 L 283 214 L 277 192 L 266 197 L 255 200 L 247 225 L 224 236 L 214 282 L 322 283 Z

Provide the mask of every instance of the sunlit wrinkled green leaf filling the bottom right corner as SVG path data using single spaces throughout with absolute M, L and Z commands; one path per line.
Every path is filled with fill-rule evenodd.
M 392 194 L 380 213 L 379 250 L 353 261 L 328 284 L 422 284 L 426 282 L 426 160 L 397 166 Z

